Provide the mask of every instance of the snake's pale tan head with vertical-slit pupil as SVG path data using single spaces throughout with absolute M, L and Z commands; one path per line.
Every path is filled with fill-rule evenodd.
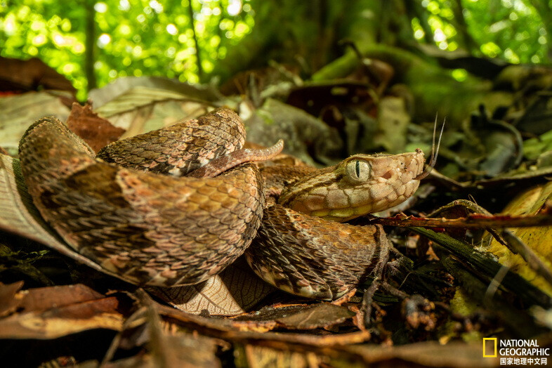
M 282 192 L 278 203 L 338 222 L 383 211 L 416 192 L 424 161 L 422 150 L 400 155 L 353 155 L 296 181 Z

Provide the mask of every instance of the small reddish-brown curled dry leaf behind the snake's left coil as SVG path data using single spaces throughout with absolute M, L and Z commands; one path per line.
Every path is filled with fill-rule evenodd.
M 88 143 L 96 153 L 102 147 L 119 139 L 124 133 L 124 129 L 117 128 L 110 121 L 98 117 L 98 114 L 92 111 L 91 105 L 81 106 L 78 103 L 73 103 L 71 113 L 67 118 L 67 126 Z

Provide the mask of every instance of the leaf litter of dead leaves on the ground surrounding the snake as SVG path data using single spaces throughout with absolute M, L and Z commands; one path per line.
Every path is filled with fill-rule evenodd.
M 42 105 L 44 114 L 68 117 L 67 124 L 95 150 L 220 105 L 239 111 L 253 143 L 287 138 L 285 153 L 307 164 L 328 165 L 358 147 L 392 153 L 425 149 L 431 125 L 414 124 L 407 87 L 396 86 L 385 96 L 385 86 L 378 83 L 387 85 L 389 79 L 367 82 L 363 72 L 361 67 L 348 79 L 317 84 L 284 73 L 281 85 L 271 79 L 270 85 L 248 90 L 245 99 L 165 79 L 132 78 L 107 86 L 107 97 L 96 109 L 73 105 L 69 113 L 56 97 L 40 93 L 8 96 L 0 103 Z M 103 95 L 100 90 L 91 96 Z M 412 201 L 386 213 L 393 217 L 353 221 L 393 225 L 390 239 L 408 256 L 394 258 L 391 266 L 396 274 L 388 282 L 399 291 L 383 287 L 374 294 L 369 329 L 360 316 L 369 283 L 336 305 L 277 291 L 242 262 L 190 287 L 143 290 L 116 280 L 41 220 L 14 150 L 39 116 L 29 111 L 15 118 L 8 111 L 0 129 L 0 146 L 12 155 L 0 157 L 0 234 L 6 234 L 0 242 L 0 338 L 14 353 L 24 351 L 24 341 L 43 341 L 37 345 L 42 352 L 50 346 L 46 342 L 65 341 L 69 350 L 44 357 L 83 367 L 494 367 L 496 359 L 482 359 L 482 336 L 531 337 L 549 346 L 550 324 L 543 321 L 552 306 L 546 276 L 551 255 L 544 244 L 551 244 L 547 183 L 552 169 L 546 160 L 550 133 L 541 124 L 549 113 L 543 98 L 527 98 L 522 110 L 512 107 L 501 116 L 489 117 L 480 109 L 468 121 L 456 122 L 445 131 L 439 170 Z M 268 138 L 263 136 L 267 129 Z M 404 133 L 400 138 L 398 131 Z M 524 140 L 520 131 L 541 137 Z M 487 209 L 502 212 L 492 215 Z M 501 230 L 508 227 L 516 230 Z M 48 248 L 21 247 L 18 242 L 25 239 Z M 65 275 L 39 265 L 45 255 L 58 260 L 53 264 L 67 265 Z M 10 270 L 15 264 L 19 273 Z M 13 280 L 14 275 L 25 281 Z M 101 339 L 100 350 L 87 349 L 83 342 L 90 339 Z

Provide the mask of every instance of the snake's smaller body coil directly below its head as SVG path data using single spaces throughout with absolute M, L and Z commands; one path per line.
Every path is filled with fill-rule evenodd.
M 298 296 L 331 301 L 377 274 L 388 252 L 380 225 L 336 223 L 268 204 L 245 256 L 269 284 Z

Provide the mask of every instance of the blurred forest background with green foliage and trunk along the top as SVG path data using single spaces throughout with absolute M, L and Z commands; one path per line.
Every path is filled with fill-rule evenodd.
M 207 82 L 228 78 L 228 55 L 239 51 L 246 67 L 267 58 L 295 58 L 312 74 L 343 52 L 339 39 L 361 36 L 380 26 L 374 42 L 437 46 L 439 50 L 508 63 L 550 63 L 552 1 L 548 0 L 415 0 L 415 1 L 260 1 L 260 0 L 105 0 L 0 1 L 0 55 L 38 57 L 64 74 L 79 93 L 125 76 L 143 75 Z M 339 2 L 341 3 L 341 2 Z M 362 9 L 354 12 L 355 8 Z M 388 18 L 388 19 L 387 19 Z M 301 27 L 296 27 L 301 22 Z M 271 24 L 269 26 L 269 24 Z M 389 31 L 407 25 L 406 36 Z M 274 26 L 278 29 L 275 30 Z M 259 53 L 249 39 L 272 37 L 294 43 L 292 55 Z M 373 37 L 373 36 L 371 36 Z M 309 40 L 316 42 L 308 44 Z M 275 42 L 273 42 L 275 44 Z M 280 48 L 282 48 L 280 44 Z M 286 48 L 286 46 L 284 46 Z M 287 46 L 289 48 L 289 45 Z M 309 60 L 308 51 L 317 58 Z M 317 51 L 313 50 L 317 48 Z M 305 61 L 308 60 L 308 61 Z M 225 66 L 221 66 L 225 65 Z M 466 72 L 453 70 L 463 79 Z

